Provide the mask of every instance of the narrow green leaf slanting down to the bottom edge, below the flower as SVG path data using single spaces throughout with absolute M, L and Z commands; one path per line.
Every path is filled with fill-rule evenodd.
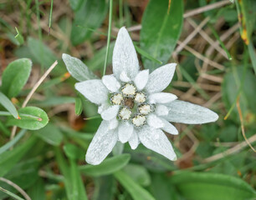
M 141 188 L 141 186 L 134 182 L 130 176 L 122 171 L 114 173 L 115 178 L 120 182 L 120 184 L 131 194 L 134 200 L 155 200 L 151 193 L 146 191 L 146 189 Z

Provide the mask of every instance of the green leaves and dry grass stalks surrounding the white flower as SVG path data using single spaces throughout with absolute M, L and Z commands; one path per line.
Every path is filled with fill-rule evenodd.
M 253 0 L 0 1 L 0 199 L 255 199 L 248 147 L 256 141 L 255 12 Z M 106 64 L 110 74 L 122 26 L 141 67 L 178 62 L 166 91 L 220 116 L 202 126 L 175 124 L 179 135 L 168 137 L 176 162 L 126 144 L 98 166 L 84 161 L 101 119 L 74 90 L 61 55 L 78 57 L 99 77 Z

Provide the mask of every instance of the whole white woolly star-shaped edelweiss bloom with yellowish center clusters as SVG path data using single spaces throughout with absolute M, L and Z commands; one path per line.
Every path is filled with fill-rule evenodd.
M 172 81 L 176 63 L 153 72 L 140 71 L 131 37 L 120 28 L 113 52 L 113 74 L 75 84 L 90 102 L 99 106 L 103 121 L 90 143 L 85 159 L 100 164 L 115 147 L 129 143 L 136 149 L 140 143 L 170 160 L 176 160 L 166 133 L 177 135 L 170 122 L 201 124 L 214 122 L 218 115 L 190 102 L 177 100 L 172 93 L 162 92 Z

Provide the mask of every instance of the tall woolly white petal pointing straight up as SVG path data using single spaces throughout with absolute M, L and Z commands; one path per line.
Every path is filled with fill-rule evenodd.
M 134 79 L 139 72 L 140 66 L 136 49 L 124 27 L 120 28 L 117 34 L 112 62 L 116 78 L 120 77 L 120 73 L 124 71 L 128 77 Z

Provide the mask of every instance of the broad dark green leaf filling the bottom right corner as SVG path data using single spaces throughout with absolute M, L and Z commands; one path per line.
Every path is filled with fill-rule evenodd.
M 244 200 L 256 198 L 253 188 L 240 178 L 218 173 L 177 173 L 172 176 L 184 198 L 190 200 Z

